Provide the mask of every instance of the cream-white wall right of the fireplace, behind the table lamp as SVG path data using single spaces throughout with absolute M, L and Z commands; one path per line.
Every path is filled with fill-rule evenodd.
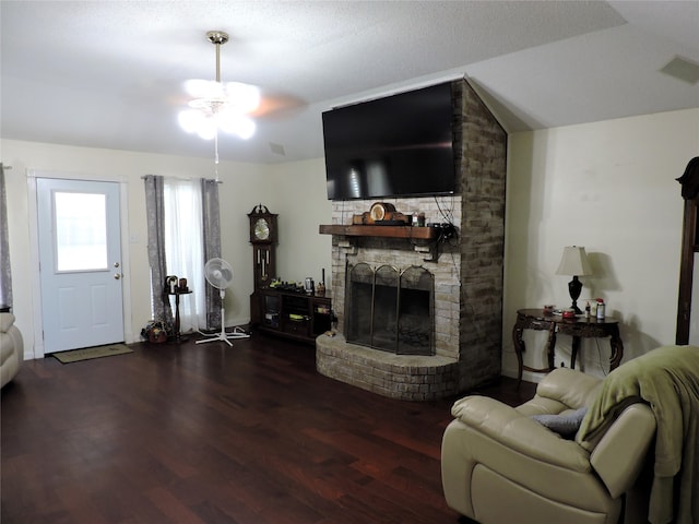
M 684 206 L 675 179 L 699 153 L 699 110 L 517 133 L 509 150 L 503 373 L 517 374 L 516 311 L 570 305 L 570 277 L 555 274 L 565 246 L 590 255 L 581 299 L 603 297 L 621 321 L 623 362 L 673 344 Z M 525 364 L 544 365 L 544 336 L 525 332 Z M 556 365 L 569 355 L 570 337 L 559 336 Z M 601 376 L 608 356 L 608 341 L 583 341 L 588 372 Z

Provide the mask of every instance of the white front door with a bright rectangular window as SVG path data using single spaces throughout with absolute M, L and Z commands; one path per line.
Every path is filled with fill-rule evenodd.
M 37 178 L 44 353 L 123 341 L 119 183 Z

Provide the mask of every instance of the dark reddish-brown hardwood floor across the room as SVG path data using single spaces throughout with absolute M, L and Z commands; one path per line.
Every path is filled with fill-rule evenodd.
M 2 390 L 2 524 L 459 522 L 439 464 L 455 398 L 384 398 L 257 334 L 131 347 L 26 361 Z

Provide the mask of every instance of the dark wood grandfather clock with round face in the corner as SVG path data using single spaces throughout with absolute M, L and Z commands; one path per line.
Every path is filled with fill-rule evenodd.
M 275 276 L 276 260 L 274 248 L 277 239 L 276 217 L 262 204 L 256 205 L 248 214 L 250 218 L 250 243 L 252 243 L 252 266 L 254 267 L 254 290 L 265 289 Z

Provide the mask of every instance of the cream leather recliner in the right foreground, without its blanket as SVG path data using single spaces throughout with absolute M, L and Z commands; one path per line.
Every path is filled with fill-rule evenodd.
M 531 418 L 590 406 L 601 383 L 559 368 L 516 408 L 477 395 L 458 401 L 441 448 L 449 507 L 481 524 L 647 522 L 639 474 L 656 428 L 648 405 L 630 404 L 594 442 L 567 440 Z

